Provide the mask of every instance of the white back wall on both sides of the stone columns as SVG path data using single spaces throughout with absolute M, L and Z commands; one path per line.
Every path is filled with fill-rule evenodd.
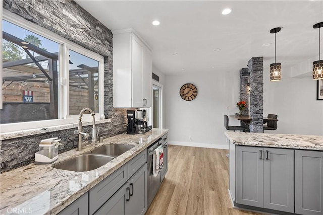
M 179 96 L 179 89 L 185 83 L 192 83 L 198 89 L 192 101 Z M 164 91 L 165 127 L 170 129 L 170 144 L 228 149 L 223 114 L 238 112 L 238 70 L 168 75 Z M 279 119 L 277 130 L 265 132 L 323 135 L 323 101 L 316 100 L 316 82 L 311 76 L 283 78 L 279 82 L 265 79 L 263 98 L 264 116 L 274 113 Z M 229 124 L 239 125 L 239 122 L 229 117 Z

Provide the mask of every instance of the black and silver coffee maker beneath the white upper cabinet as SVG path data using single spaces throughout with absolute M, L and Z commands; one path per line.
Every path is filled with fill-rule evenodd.
M 144 134 L 151 129 L 147 126 L 146 110 L 127 110 L 127 134 Z

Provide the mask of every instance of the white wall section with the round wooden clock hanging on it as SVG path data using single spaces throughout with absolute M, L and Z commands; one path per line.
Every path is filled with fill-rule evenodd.
M 192 83 L 198 94 L 192 101 L 184 101 L 179 90 L 183 84 Z M 179 74 L 166 76 L 166 128 L 169 128 L 170 144 L 229 148 L 224 134 L 224 114 L 238 112 L 239 71 L 229 73 Z M 230 110 L 227 110 L 227 106 Z M 229 123 L 239 122 L 229 118 Z M 192 136 L 192 140 L 189 140 Z

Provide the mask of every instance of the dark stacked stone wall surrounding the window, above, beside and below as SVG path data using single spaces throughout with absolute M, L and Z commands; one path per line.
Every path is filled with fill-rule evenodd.
M 113 67 L 112 39 L 110 29 L 77 5 L 74 1 L 4 0 L 4 9 L 46 28 L 78 45 L 96 52 L 104 58 L 104 114 L 112 122 L 102 123 L 99 136 L 113 136 L 126 131 L 125 109 L 113 109 Z M 92 133 L 92 126 L 84 126 L 85 132 Z M 59 153 L 77 147 L 78 136 L 74 129 L 11 138 L 1 143 L 1 172 L 34 162 L 34 153 L 39 150 L 39 141 L 59 137 L 63 144 Z M 89 137 L 90 139 L 91 137 Z

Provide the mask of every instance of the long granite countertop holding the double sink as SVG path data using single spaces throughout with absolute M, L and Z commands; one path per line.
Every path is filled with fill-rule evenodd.
M 100 144 L 87 145 L 80 152 L 70 150 L 62 153 L 53 164 L 33 163 L 2 173 L 0 214 L 12 214 L 15 209 L 23 214 L 57 214 L 167 132 L 168 129 L 153 128 L 144 135 L 119 134 L 104 139 Z M 72 172 L 51 167 L 106 144 L 135 147 L 92 171 Z

